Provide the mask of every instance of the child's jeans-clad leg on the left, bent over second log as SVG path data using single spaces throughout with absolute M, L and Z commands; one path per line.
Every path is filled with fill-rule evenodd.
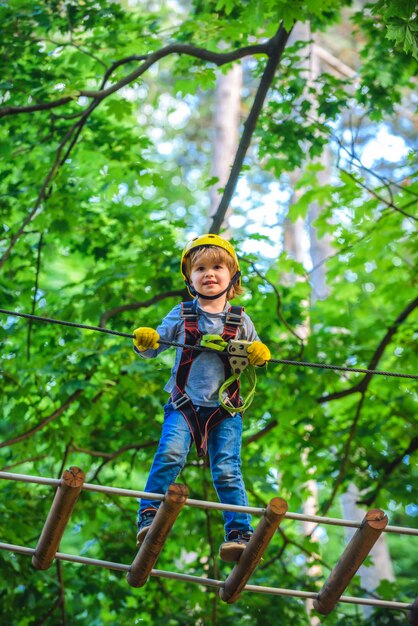
M 192 436 L 186 420 L 171 404 L 164 407 L 164 423 L 157 452 L 145 485 L 145 491 L 165 493 L 183 469 L 190 450 Z M 158 509 L 159 500 L 142 498 L 138 523 L 146 509 Z

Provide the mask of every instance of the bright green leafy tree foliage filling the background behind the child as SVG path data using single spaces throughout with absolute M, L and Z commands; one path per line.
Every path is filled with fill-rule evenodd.
M 290 29 L 303 19 L 314 31 L 332 32 L 349 4 L 196 0 L 173 10 L 142 1 L 1 3 L 2 308 L 125 333 L 156 326 L 184 297 L 179 250 L 206 221 L 212 91 L 217 72 L 231 62 L 218 70 L 195 56 L 196 48 L 222 54 L 261 46 L 245 54 L 246 110 L 266 63 L 263 46 L 280 21 Z M 389 117 L 408 102 L 416 73 L 411 6 L 382 0 L 373 15 L 353 14 L 352 36 L 362 45 L 355 80 L 323 72 L 309 82 L 309 49 L 296 41 L 271 84 L 243 176 L 255 199 L 272 181 L 289 186 L 288 173 L 300 168 L 298 201 L 286 217 L 305 218 L 319 203 L 315 226 L 332 236 L 334 249 L 330 296 L 308 306 L 300 263 L 284 252 L 273 261 L 246 252 L 251 217 L 241 209 L 247 221 L 234 237 L 245 274 L 242 302 L 278 358 L 414 371 L 415 163 L 409 157 L 371 169 L 361 162 L 381 120 L 402 126 L 411 155 L 416 149 L 408 121 Z M 383 54 L 388 41 L 390 55 Z M 173 45 L 189 46 L 188 53 L 149 56 Z M 322 185 L 325 147 L 336 166 L 332 184 Z M 262 238 L 253 239 L 261 249 Z M 308 322 L 304 343 L 299 329 Z M 159 437 L 171 352 L 144 363 L 127 339 L 5 315 L 0 341 L 1 469 L 56 477 L 75 465 L 88 482 L 141 489 Z M 319 512 L 339 517 L 337 496 L 354 482 L 367 505 L 390 509 L 391 523 L 417 526 L 415 401 L 411 380 L 270 364 L 245 416 L 251 504 L 264 506 L 280 494 L 291 511 L 301 511 L 312 477 Z M 216 500 L 209 468 L 193 453 L 181 478 L 191 497 Z M 0 489 L 2 541 L 35 546 L 50 488 L 1 481 Z M 131 563 L 136 506 L 83 492 L 61 551 Z M 157 567 L 225 578 L 230 568 L 216 556 L 222 533 L 218 512 L 186 507 Z M 390 538 L 398 586 L 388 599 L 413 598 L 413 540 Z M 308 557 L 326 575 L 343 542 L 340 530 L 327 529 L 318 545 L 285 520 L 250 582 L 316 590 L 323 576 L 309 577 Z M 27 556 L 5 551 L 0 567 L 7 581 L 0 587 L 2 623 L 16 626 L 307 620 L 295 598 L 244 592 L 226 605 L 211 588 L 164 578 L 136 590 L 123 574 L 99 567 L 58 563 L 35 572 Z M 361 595 L 356 580 L 349 592 Z M 378 593 L 388 597 L 384 586 Z M 326 623 L 384 620 L 375 612 L 365 621 L 358 607 L 340 604 Z

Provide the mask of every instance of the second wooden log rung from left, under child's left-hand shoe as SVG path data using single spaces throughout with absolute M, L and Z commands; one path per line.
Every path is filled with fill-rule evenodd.
M 131 587 L 142 587 L 147 582 L 168 534 L 187 500 L 187 496 L 186 485 L 175 483 L 168 488 L 126 576 Z

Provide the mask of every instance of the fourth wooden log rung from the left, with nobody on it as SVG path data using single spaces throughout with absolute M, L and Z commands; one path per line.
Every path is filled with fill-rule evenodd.
M 314 600 L 313 605 L 318 613 L 327 615 L 332 611 L 387 523 L 388 518 L 384 511 L 371 509 L 367 512 L 360 528 L 353 535 L 318 597 Z

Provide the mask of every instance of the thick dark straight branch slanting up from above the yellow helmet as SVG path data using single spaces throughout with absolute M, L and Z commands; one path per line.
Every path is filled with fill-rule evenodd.
M 268 90 L 270 89 L 271 83 L 273 82 L 274 75 L 281 60 L 289 35 L 290 31 L 287 32 L 283 28 L 283 26 L 280 25 L 275 36 L 268 42 L 269 59 L 267 61 L 263 76 L 260 80 L 260 84 L 258 86 L 250 114 L 248 115 L 248 118 L 244 123 L 244 132 L 242 133 L 238 150 L 235 154 L 231 173 L 225 185 L 225 189 L 219 206 L 212 219 L 212 225 L 209 229 L 209 232 L 211 233 L 219 233 L 222 227 L 222 223 L 225 219 L 225 215 L 231 202 L 231 198 L 234 194 L 235 187 L 237 186 L 238 177 L 241 173 L 244 159 L 250 146 L 251 138 L 254 134 L 257 121 L 261 113 L 261 109 L 263 108 L 264 100 L 266 98 Z

